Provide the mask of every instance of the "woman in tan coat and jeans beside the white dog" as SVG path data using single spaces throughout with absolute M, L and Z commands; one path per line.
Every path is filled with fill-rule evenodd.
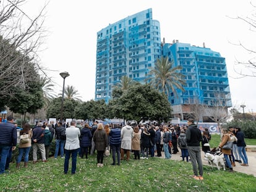
M 224 144 L 226 144 L 228 141 L 230 141 L 229 130 L 227 128 L 223 128 L 221 131 L 223 133 L 223 136 L 221 138 L 221 142 L 220 142 L 218 148 L 221 148 L 221 152 L 223 152 L 224 158 L 226 160 L 226 164 L 229 167 L 229 171 L 233 172 L 233 167 L 232 167 L 231 162 L 229 161 L 229 157 L 228 157 L 229 155 L 231 155 L 231 149 L 223 149 Z

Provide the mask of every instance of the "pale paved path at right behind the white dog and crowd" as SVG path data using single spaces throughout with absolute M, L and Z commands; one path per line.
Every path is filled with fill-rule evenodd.
M 256 152 L 247 151 L 246 154 L 248 157 L 249 167 L 241 166 L 238 162 L 236 162 L 236 167 L 233 167 L 233 170 L 236 172 L 246 173 L 248 175 L 254 175 L 254 177 L 256 177 Z M 203 165 L 209 165 L 208 161 L 203 160 L 205 158 L 203 151 L 201 151 L 201 155 L 202 155 Z M 164 158 L 164 152 L 162 152 L 162 157 Z M 223 154 L 221 155 L 221 157 L 223 157 Z M 179 152 L 177 152 L 177 154 L 172 154 L 171 159 L 175 161 L 181 161 L 182 160 L 181 150 L 179 149 Z

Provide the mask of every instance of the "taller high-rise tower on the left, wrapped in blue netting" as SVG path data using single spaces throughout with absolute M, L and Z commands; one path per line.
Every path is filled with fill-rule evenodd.
M 113 85 L 126 75 L 140 83 L 161 56 L 160 22 L 152 9 L 109 24 L 97 33 L 95 100 L 111 98 Z

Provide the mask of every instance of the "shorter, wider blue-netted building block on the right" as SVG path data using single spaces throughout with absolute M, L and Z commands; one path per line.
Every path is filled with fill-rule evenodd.
M 208 121 L 209 109 L 212 111 L 221 106 L 224 114 L 228 112 L 228 107 L 232 106 L 228 72 L 225 58 L 219 52 L 205 48 L 204 43 L 198 47 L 176 40 L 172 44 L 163 44 L 163 56 L 168 56 L 174 67 L 181 65 L 181 73 L 186 77 L 185 91 L 177 90 L 177 96 L 169 94 L 174 117 L 187 119 L 196 106 L 210 106 L 207 111 L 200 110 L 200 121 Z

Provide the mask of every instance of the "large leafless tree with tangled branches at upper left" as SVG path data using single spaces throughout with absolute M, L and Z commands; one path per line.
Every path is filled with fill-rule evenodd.
M 22 10 L 26 0 L 0 1 L 0 93 L 11 95 L 15 90 L 25 89 L 36 70 L 37 52 L 46 36 L 43 28 L 45 6 L 35 18 Z M 16 88 L 16 89 L 14 89 Z

